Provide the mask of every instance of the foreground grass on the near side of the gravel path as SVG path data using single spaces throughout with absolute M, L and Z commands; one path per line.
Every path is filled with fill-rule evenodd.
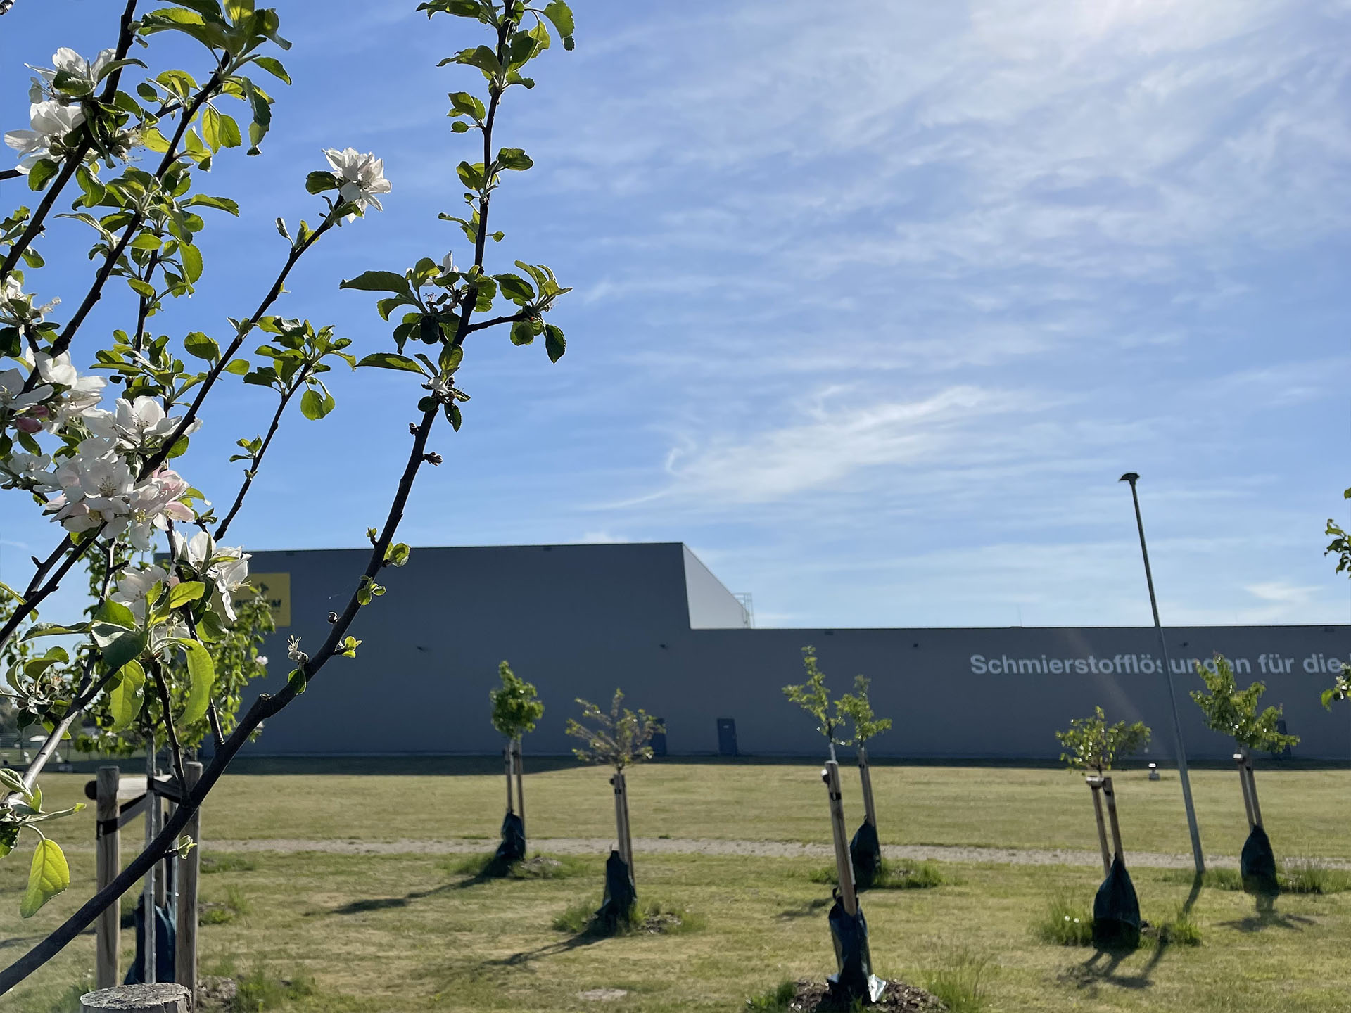
M 458 860 L 458 859 L 457 859 Z M 569 906 L 600 901 L 601 862 L 566 879 L 470 883 L 435 856 L 250 855 L 253 868 L 204 877 L 207 901 L 243 898 L 246 914 L 203 935 L 205 970 L 312 979 L 284 1009 L 357 1013 L 401 1010 L 581 1010 L 592 989 L 624 989 L 616 1010 L 744 1009 L 785 978 L 834 970 L 825 927 L 828 887 L 819 863 L 797 859 L 667 856 L 644 859 L 644 900 L 676 905 L 703 928 L 669 936 L 580 940 L 551 928 Z M 74 875 L 88 877 L 78 855 Z M 943 968 L 985 962 L 989 1013 L 1024 1010 L 1282 1010 L 1340 1013 L 1351 994 L 1351 894 L 1282 897 L 1277 916 L 1255 917 L 1242 893 L 1202 890 L 1194 908 L 1200 947 L 1142 950 L 1117 966 L 1088 948 L 1038 940 L 1047 900 L 1069 891 L 1089 902 L 1090 870 L 944 866 L 948 883 L 865 895 L 877 970 L 923 983 Z M 14 897 L 22 870 L 5 864 L 0 890 Z M 952 882 L 955 881 L 955 882 Z M 1146 918 L 1173 918 L 1188 893 L 1175 873 L 1139 870 Z M 234 887 L 231 890 L 231 887 Z M 7 906 L 7 952 L 69 912 L 61 897 L 31 923 Z M 130 933 L 124 954 L 130 951 Z M 81 939 L 30 979 L 5 1008 L 61 1009 L 70 982 L 92 966 Z

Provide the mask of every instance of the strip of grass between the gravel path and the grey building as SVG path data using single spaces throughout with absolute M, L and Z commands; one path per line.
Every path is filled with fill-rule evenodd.
M 526 758 L 527 764 L 531 758 Z M 392 840 L 497 836 L 504 805 L 500 764 L 482 759 L 366 762 L 376 774 L 257 773 L 222 779 L 204 809 L 204 840 L 299 837 Z M 345 760 L 354 769 L 362 760 Z M 528 774 L 526 805 L 536 837 L 607 837 L 613 798 L 604 770 L 553 766 Z M 127 764 L 128 771 L 139 766 Z M 254 760 L 245 770 L 332 769 L 334 763 Z M 413 771 L 427 770 L 426 774 Z M 824 789 L 815 763 L 653 763 L 632 771 L 630 808 L 639 837 L 830 841 Z M 850 824 L 862 820 L 858 777 L 842 771 Z M 43 775 L 49 808 L 82 800 L 89 774 Z M 1115 777 L 1127 854 L 1186 854 L 1190 843 L 1177 774 L 1151 782 L 1143 770 Z M 1246 820 L 1238 774 L 1192 774 L 1201 841 L 1238 855 Z M 984 844 L 1096 850 L 1092 801 L 1082 778 L 1054 769 L 878 766 L 873 789 L 888 844 Z M 1351 770 L 1259 770 L 1262 816 L 1278 855 L 1351 859 Z M 304 800 L 297 806 L 295 800 Z M 92 841 L 84 812 L 55 831 Z

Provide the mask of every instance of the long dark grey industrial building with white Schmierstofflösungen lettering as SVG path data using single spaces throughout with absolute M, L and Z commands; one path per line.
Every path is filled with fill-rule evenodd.
M 288 636 L 311 651 L 323 642 L 366 556 L 254 554 L 251 571 L 290 575 L 292 623 L 265 648 L 265 687 L 285 679 Z M 747 629 L 740 602 L 681 543 L 417 548 L 381 582 L 388 593 L 351 631 L 358 656 L 330 662 L 254 752 L 497 751 L 488 692 L 505 658 L 547 708 L 534 754 L 569 751 L 574 698 L 604 704 L 623 687 L 631 706 L 666 720 L 673 754 L 716 752 L 716 719 L 734 717 L 742 752 L 815 756 L 812 720 L 781 693 L 802 678 L 804 644 L 835 693 L 857 673 L 871 678 L 874 706 L 896 723 L 871 747 L 878 756 L 1054 759 L 1055 731 L 1094 705 L 1109 720 L 1146 721 L 1152 756 L 1173 752 L 1152 628 Z M 1186 627 L 1166 638 L 1190 755 L 1232 752 L 1186 698 L 1201 685 L 1188 659 L 1221 651 L 1240 685 L 1260 678 L 1265 702 L 1285 705 L 1304 737 L 1296 756 L 1351 758 L 1351 708 L 1319 702 L 1351 658 L 1351 627 Z

